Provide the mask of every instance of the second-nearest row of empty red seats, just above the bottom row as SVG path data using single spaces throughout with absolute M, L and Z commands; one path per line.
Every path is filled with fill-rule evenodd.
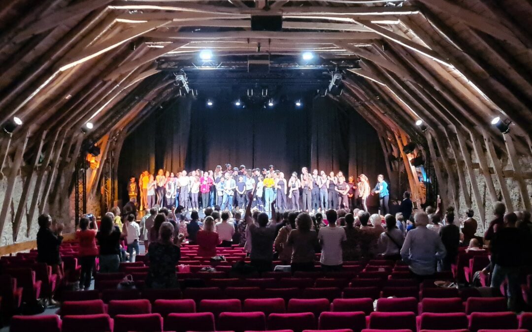
M 64 301 L 57 311 L 60 316 L 109 313 L 111 317 L 117 314 L 160 313 L 167 316 L 170 313 L 212 312 L 218 316 L 221 312 L 262 311 L 270 313 L 312 312 L 319 316 L 323 312 L 354 312 L 362 311 L 366 316 L 373 312 L 373 299 L 238 299 L 227 300 L 162 300 L 155 299 L 153 304 L 147 299 L 142 300 L 112 300 L 108 305 L 102 300 Z M 414 314 L 422 313 L 464 313 L 473 312 L 505 312 L 504 297 L 470 297 L 465 303 L 458 297 L 451 299 L 423 299 L 418 302 L 413 297 L 382 298 L 377 300 L 375 311 L 400 312 L 409 311 Z M 532 313 L 530 313 L 532 314 Z

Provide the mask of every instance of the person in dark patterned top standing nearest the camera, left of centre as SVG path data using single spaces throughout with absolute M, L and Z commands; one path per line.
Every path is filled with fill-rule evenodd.
M 181 258 L 181 252 L 179 247 L 173 244 L 173 232 L 172 224 L 164 222 L 159 229 L 159 239 L 149 244 L 147 253 L 149 270 L 146 277 L 146 287 L 178 287 L 176 265 Z

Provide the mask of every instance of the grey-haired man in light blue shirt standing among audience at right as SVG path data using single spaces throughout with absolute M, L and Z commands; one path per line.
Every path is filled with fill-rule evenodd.
M 427 228 L 426 212 L 417 212 L 414 222 L 416 228 L 406 233 L 401 257 L 417 279 L 423 280 L 436 273 L 437 262 L 445 257 L 446 251 L 438 234 Z

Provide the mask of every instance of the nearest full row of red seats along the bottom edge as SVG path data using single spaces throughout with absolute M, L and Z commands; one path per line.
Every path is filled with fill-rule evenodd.
M 419 324 L 418 324 L 419 321 Z M 211 312 L 118 314 L 112 319 L 107 314 L 86 316 L 15 316 L 11 332 L 85 332 L 85 331 L 270 331 L 291 330 L 303 332 L 318 328 L 321 331 L 363 332 L 375 330 L 423 331 L 423 330 L 516 330 L 532 328 L 531 314 L 522 314 L 519 319 L 513 312 L 475 312 L 469 317 L 463 313 L 424 313 L 417 319 L 413 312 L 372 312 L 366 317 L 363 312 L 323 312 L 316 319 L 312 312 L 271 313 L 222 312 L 215 319 Z

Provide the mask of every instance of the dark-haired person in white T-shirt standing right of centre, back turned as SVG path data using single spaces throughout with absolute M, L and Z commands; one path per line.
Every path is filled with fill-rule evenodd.
M 321 268 L 325 272 L 342 269 L 342 242 L 347 241 L 345 229 L 336 226 L 338 215 L 333 209 L 325 212 L 329 225 L 320 228 L 318 240 L 321 244 Z

